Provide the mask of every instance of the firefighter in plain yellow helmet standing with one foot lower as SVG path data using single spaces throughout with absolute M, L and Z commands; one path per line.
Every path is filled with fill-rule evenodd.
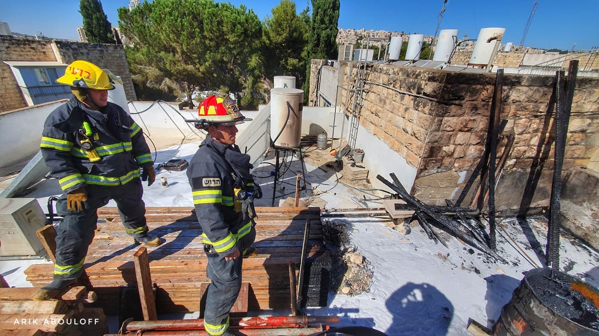
M 55 298 L 75 283 L 96 230 L 96 210 L 110 199 L 135 242 L 161 244 L 147 234 L 141 198 L 140 170 L 148 176 L 148 185 L 156 176 L 152 155 L 141 127 L 108 102 L 108 90 L 114 89 L 110 78 L 98 66 L 76 60 L 56 81 L 69 85 L 73 96 L 46 119 L 41 152 L 63 191 L 56 203 L 63 219 L 57 227 L 54 279 L 35 293 L 34 300 Z

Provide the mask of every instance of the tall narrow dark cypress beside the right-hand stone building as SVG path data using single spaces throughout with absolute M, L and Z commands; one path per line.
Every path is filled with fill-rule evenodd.
M 337 58 L 337 23 L 339 20 L 339 0 L 312 0 L 312 20 L 308 35 L 307 71 L 304 89 L 304 103 L 310 96 L 310 62 L 311 59 Z

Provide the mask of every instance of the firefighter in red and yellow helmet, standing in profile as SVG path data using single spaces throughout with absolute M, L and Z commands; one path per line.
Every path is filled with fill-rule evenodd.
M 187 168 L 193 204 L 208 257 L 204 327 L 210 335 L 232 335 L 229 310 L 241 289 L 243 258 L 258 254 L 253 198 L 262 197 L 250 175 L 250 156 L 235 145 L 237 127 L 250 121 L 230 97 L 210 96 L 198 109 L 198 129 L 208 132 Z

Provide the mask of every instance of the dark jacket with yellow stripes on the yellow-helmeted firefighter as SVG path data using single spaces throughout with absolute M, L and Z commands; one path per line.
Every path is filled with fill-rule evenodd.
M 108 102 L 104 113 L 86 108 L 74 96 L 56 108 L 44 124 L 41 152 L 65 193 L 86 185 L 123 185 L 139 178 L 140 167 L 154 163 L 143 131 L 119 105 Z M 85 135 L 84 122 L 90 135 Z M 91 143 L 86 151 L 83 142 Z M 92 161 L 89 151 L 99 160 Z

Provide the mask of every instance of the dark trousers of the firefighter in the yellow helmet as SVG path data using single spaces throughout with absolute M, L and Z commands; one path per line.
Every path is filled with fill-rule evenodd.
M 141 199 L 143 187 L 140 179 L 135 178 L 125 185 L 111 187 L 87 185 L 86 191 L 87 201 L 83 203 L 83 211 L 66 209 L 66 194 L 56 202 L 56 212 L 63 220 L 56 227 L 55 280 L 72 280 L 81 276 L 87 249 L 98 227 L 97 210 L 108 204 L 109 200 L 116 202 L 129 236 L 141 237 L 147 234 L 146 204 Z

